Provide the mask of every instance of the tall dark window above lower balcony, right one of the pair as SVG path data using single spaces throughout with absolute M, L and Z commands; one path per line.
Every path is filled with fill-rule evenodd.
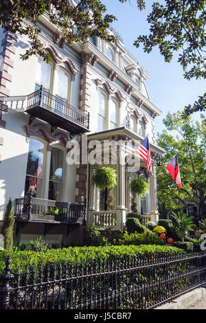
M 52 148 L 50 175 L 49 175 L 49 199 L 60 201 L 63 184 L 64 152 L 60 148 Z

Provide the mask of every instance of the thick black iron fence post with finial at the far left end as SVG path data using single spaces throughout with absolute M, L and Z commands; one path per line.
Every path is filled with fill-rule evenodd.
M 10 287 L 10 280 L 14 277 L 10 274 L 10 256 L 8 256 L 5 261 L 5 271 L 3 275 L 0 275 L 0 309 L 8 309 L 10 303 L 10 291 L 12 291 L 12 287 Z

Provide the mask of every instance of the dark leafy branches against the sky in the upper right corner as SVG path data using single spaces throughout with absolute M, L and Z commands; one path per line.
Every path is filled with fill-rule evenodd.
M 138 0 L 139 10 L 147 1 Z M 137 37 L 134 45 L 144 46 L 150 53 L 158 46 L 165 62 L 170 62 L 174 52 L 179 52 L 179 63 L 183 65 L 184 77 L 206 78 L 206 1 L 205 0 L 165 0 L 154 2 L 148 15 L 150 34 Z M 190 67 L 188 69 L 188 67 Z M 188 70 L 187 70 L 188 69 Z M 206 110 L 206 93 L 193 106 L 185 107 L 184 118 L 196 111 Z

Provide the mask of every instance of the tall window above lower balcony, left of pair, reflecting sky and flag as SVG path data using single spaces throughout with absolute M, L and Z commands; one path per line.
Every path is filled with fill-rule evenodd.
M 31 139 L 27 159 L 27 172 L 25 179 L 25 196 L 33 190 L 34 197 L 41 197 L 43 190 L 45 145 L 43 142 Z

